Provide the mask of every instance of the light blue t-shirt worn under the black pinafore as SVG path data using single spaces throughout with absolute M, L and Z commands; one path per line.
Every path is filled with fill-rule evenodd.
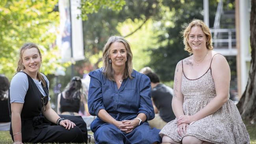
M 42 73 L 41 73 L 42 74 Z M 48 89 L 49 89 L 49 81 L 46 78 L 44 74 L 42 74 L 44 77 Z M 33 79 L 33 78 L 32 78 Z M 43 86 L 41 85 L 41 81 L 38 81 L 36 79 L 33 79 L 35 82 L 36 86 L 40 90 L 40 92 L 43 94 L 43 96 L 46 97 L 46 93 L 43 89 Z M 23 72 L 18 72 L 13 76 L 13 79 L 11 79 L 11 84 L 10 84 L 10 102 L 16 102 L 16 103 L 24 103 L 24 99 L 26 96 L 26 93 L 28 91 L 28 76 L 24 74 Z M 50 100 L 50 97 L 48 96 L 48 100 Z

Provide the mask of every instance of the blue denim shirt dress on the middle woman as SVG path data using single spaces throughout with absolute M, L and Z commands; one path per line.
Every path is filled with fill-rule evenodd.
M 102 68 L 89 73 L 91 76 L 88 96 L 89 113 L 98 115 L 100 109 L 105 109 L 118 121 L 132 120 L 137 114 L 144 113 L 147 120 L 154 118 L 154 108 L 151 100 L 150 79 L 133 70 L 133 79 L 123 79 L 118 89 L 115 81 L 107 79 Z M 159 129 L 151 128 L 148 122 L 143 122 L 130 133 L 122 132 L 113 124 L 106 123 L 97 117 L 91 124 L 96 143 L 109 144 L 151 144 L 161 142 Z

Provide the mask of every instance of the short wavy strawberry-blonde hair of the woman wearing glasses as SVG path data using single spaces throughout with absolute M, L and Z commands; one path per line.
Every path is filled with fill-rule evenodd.
M 188 41 L 188 35 L 191 32 L 191 29 L 194 26 L 198 26 L 202 29 L 202 31 L 204 32 L 204 34 L 206 35 L 206 48 L 208 50 L 213 50 L 213 46 L 212 46 L 212 42 L 211 42 L 211 32 L 210 29 L 208 28 L 208 26 L 206 26 L 206 24 L 202 21 L 202 20 L 198 20 L 198 19 L 193 19 L 185 28 L 184 31 L 182 31 L 183 34 L 183 43 L 185 45 L 184 50 L 186 50 L 187 52 L 189 52 L 189 54 L 192 54 L 192 48 L 189 46 L 189 41 Z

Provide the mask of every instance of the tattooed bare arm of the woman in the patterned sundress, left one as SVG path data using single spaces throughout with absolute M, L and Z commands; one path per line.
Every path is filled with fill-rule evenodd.
M 181 115 L 184 115 L 183 111 L 183 100 L 184 96 L 181 92 L 181 84 L 182 84 L 182 63 L 181 61 L 177 64 L 175 74 L 174 74 L 174 86 L 173 86 L 173 100 L 172 107 L 173 113 L 176 118 Z

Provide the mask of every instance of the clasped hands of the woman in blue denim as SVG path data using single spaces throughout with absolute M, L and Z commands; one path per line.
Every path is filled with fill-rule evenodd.
M 121 131 L 125 133 L 130 133 L 132 130 L 139 126 L 138 120 L 122 120 L 122 121 L 116 121 L 114 124 L 117 128 L 119 128 Z

